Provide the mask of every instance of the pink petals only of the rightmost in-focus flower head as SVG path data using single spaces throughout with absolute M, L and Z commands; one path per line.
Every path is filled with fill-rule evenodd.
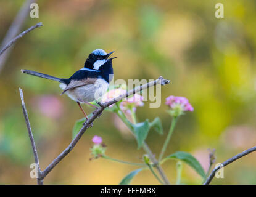
M 171 95 L 170 97 L 166 98 L 165 104 L 168 105 L 171 109 L 179 106 L 182 108 L 182 111 L 194 111 L 194 108 L 185 97 L 175 97 Z

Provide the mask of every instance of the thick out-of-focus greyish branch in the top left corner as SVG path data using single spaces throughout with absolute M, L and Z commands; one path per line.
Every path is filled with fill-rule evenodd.
M 35 1 L 36 0 L 27 0 L 24 2 L 23 6 L 20 8 L 18 14 L 15 16 L 12 24 L 10 25 L 6 33 L 6 36 L 4 36 L 0 49 L 6 46 L 6 44 L 8 44 L 8 42 L 21 31 L 21 28 L 25 20 L 28 18 L 30 4 Z M 2 67 L 4 66 L 4 63 L 6 62 L 7 58 L 9 57 L 10 52 L 11 48 L 6 50 L 6 52 L 0 56 L 0 71 L 2 70 Z

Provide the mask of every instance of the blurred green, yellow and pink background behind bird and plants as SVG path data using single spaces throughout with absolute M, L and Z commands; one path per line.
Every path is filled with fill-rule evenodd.
M 25 1 L 0 0 L 0 40 Z M 215 18 L 215 4 L 222 2 L 225 18 Z M 28 116 L 38 148 L 41 169 L 70 143 L 72 128 L 83 118 L 76 103 L 60 96 L 59 84 L 20 73 L 26 68 L 68 78 L 83 66 L 97 48 L 115 50 L 115 79 L 156 79 L 162 87 L 162 105 L 137 110 L 140 121 L 162 119 L 165 134 L 149 133 L 146 142 L 159 154 L 171 118 L 164 104 L 168 95 L 184 96 L 194 112 L 182 116 L 167 154 L 188 151 L 207 169 L 207 148 L 215 148 L 217 163 L 256 144 L 256 1 L 38 1 L 39 18 L 25 20 L 22 30 L 43 22 L 16 42 L 0 71 L 0 183 L 33 184 L 34 163 L 22 114 L 19 87 L 25 94 Z M 86 111 L 92 108 L 85 107 Z M 107 144 L 107 155 L 140 162 L 128 129 L 112 113 L 104 111 L 73 151 L 46 177 L 47 184 L 118 184 L 136 166 L 91 158 L 93 135 Z M 175 161 L 163 165 L 175 183 Z M 202 179 L 184 164 L 181 182 Z M 134 184 L 158 183 L 142 171 Z M 255 184 L 256 153 L 225 167 L 224 179 L 212 183 Z

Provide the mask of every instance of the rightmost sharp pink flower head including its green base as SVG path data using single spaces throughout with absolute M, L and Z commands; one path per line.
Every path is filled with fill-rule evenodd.
M 166 98 L 165 104 L 170 107 L 171 116 L 180 116 L 184 111 L 194 111 L 194 108 L 185 97 L 175 97 L 171 95 Z

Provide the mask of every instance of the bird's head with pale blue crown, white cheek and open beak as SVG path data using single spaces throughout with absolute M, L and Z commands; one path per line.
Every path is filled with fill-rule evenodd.
M 88 58 L 85 61 L 85 68 L 93 69 L 93 70 L 102 70 L 104 65 L 112 66 L 112 59 L 116 57 L 109 58 L 114 51 L 107 54 L 105 50 L 96 49 L 91 54 L 89 54 Z

